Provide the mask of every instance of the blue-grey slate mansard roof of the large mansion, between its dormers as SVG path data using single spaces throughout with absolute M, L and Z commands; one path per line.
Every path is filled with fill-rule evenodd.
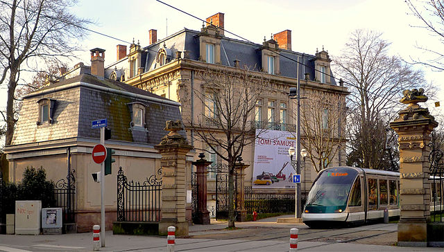
M 172 60 L 176 57 L 178 51 L 187 51 L 187 58 L 190 60 L 199 59 L 199 34 L 200 32 L 196 30 L 189 30 L 184 28 L 178 33 L 170 35 L 158 42 L 146 46 L 143 48 L 142 52 L 142 64 L 144 67 L 144 72 L 153 71 L 158 66 L 156 66 L 155 57 L 157 51 L 164 46 L 169 49 L 170 55 L 167 55 L 167 60 Z M 234 60 L 239 60 L 240 66 L 248 66 L 250 70 L 259 71 L 262 66 L 262 53 L 260 48 L 262 44 L 255 44 L 250 42 L 244 42 L 239 39 L 232 39 L 229 37 L 221 37 L 221 64 L 224 66 L 234 66 Z M 310 80 L 314 80 L 314 55 L 309 55 L 306 53 L 298 53 L 295 51 L 279 49 L 280 55 L 280 75 L 296 78 L 297 75 L 297 63 L 292 60 L 298 60 L 302 63 L 302 55 L 304 57 L 303 63 L 305 67 L 300 65 L 299 78 L 305 79 L 304 73 L 309 73 Z M 182 56 L 183 57 L 183 56 Z M 289 60 L 288 58 L 292 60 Z M 128 68 L 127 60 L 120 60 L 119 62 L 114 62 L 107 67 L 108 71 L 112 71 L 114 66 L 117 68 L 121 67 L 123 69 Z M 328 78 L 328 76 L 327 76 Z M 331 84 L 336 85 L 334 78 L 331 78 Z

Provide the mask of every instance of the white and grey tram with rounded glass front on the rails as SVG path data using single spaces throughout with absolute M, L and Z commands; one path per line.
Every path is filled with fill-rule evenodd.
M 400 174 L 348 166 L 319 172 L 307 197 L 302 222 L 310 227 L 366 224 L 400 216 Z

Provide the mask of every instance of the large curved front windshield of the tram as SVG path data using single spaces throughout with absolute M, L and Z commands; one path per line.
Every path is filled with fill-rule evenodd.
M 332 168 L 314 182 L 307 198 L 307 206 L 345 206 L 358 172 L 350 168 Z

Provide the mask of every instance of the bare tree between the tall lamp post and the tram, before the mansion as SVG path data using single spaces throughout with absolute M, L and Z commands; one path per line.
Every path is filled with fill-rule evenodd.
M 306 98 L 301 100 L 300 110 L 300 127 L 304 136 L 302 146 L 307 149 L 316 172 L 320 172 L 343 149 L 345 96 L 321 90 L 306 92 L 304 95 Z

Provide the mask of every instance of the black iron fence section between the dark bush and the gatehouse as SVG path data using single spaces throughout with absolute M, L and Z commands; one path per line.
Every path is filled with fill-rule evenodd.
M 65 179 L 59 179 L 54 185 L 54 197 L 56 198 L 56 207 L 62 208 L 63 223 L 74 223 L 76 210 L 76 179 L 75 170 Z

